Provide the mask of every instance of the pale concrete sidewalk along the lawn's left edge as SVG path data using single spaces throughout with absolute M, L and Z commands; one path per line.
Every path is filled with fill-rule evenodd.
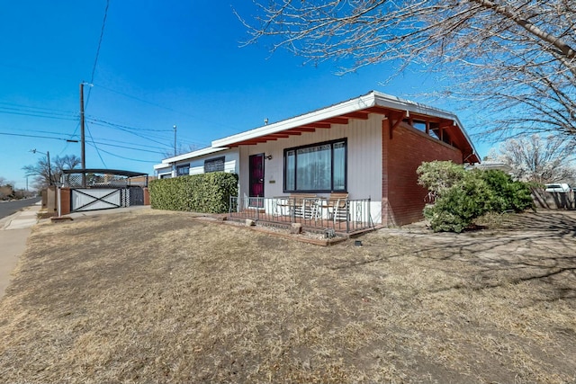
M 18 263 L 18 257 L 26 249 L 31 227 L 38 222 L 37 214 L 40 208 L 39 202 L 0 219 L 0 298 L 4 296 L 12 278 L 11 273 Z

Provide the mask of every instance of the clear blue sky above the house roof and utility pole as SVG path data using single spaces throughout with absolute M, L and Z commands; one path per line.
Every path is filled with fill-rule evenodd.
M 0 2 L 0 176 L 17 188 L 26 187 L 22 167 L 43 156 L 31 149 L 80 156 L 66 139 L 79 138 L 82 82 L 94 84 L 85 86 L 86 167 L 148 174 L 174 150 L 174 125 L 178 147 L 207 147 L 371 90 L 419 101 L 410 95 L 437 86 L 418 72 L 383 85 L 385 65 L 337 76 L 338 63 L 303 65 L 284 50 L 270 54 L 266 40 L 241 48 L 247 31 L 232 10 L 253 15 L 245 0 L 111 0 L 94 68 L 105 7 Z M 472 125 L 472 112 L 458 114 Z M 489 146 L 474 142 L 485 156 Z

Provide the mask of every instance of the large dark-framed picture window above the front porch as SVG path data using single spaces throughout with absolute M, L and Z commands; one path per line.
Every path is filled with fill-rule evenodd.
M 347 140 L 284 149 L 284 192 L 346 192 Z

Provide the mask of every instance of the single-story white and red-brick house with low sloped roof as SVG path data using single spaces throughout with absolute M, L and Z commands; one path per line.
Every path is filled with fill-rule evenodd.
M 239 197 L 347 192 L 350 200 L 369 198 L 374 223 L 392 226 L 422 219 L 427 191 L 416 169 L 432 160 L 480 162 L 457 116 L 370 92 L 214 140 L 154 169 L 158 178 L 233 172 Z

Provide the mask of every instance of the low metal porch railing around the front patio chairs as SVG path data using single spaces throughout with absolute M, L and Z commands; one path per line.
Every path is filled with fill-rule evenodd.
M 323 198 L 230 196 L 229 216 L 286 226 L 302 223 L 302 227 L 326 231 L 327 236 L 374 228 L 370 199 L 348 199 L 335 204 Z

